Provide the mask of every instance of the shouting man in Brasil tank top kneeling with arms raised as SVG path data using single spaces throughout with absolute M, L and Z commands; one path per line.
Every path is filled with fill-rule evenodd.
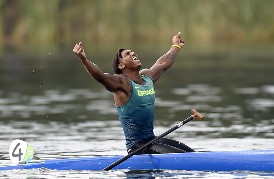
M 150 69 L 142 69 L 142 63 L 135 52 L 120 49 L 112 59 L 114 75 L 103 73 L 98 66 L 86 58 L 83 43 L 73 49 L 86 71 L 108 90 L 113 92 L 119 119 L 123 127 L 128 153 L 138 149 L 155 138 L 154 120 L 154 84 L 161 74 L 175 61 L 178 52 L 184 46 L 179 32 L 172 39 L 171 49 L 160 57 Z M 179 141 L 162 138 L 138 154 L 195 152 Z

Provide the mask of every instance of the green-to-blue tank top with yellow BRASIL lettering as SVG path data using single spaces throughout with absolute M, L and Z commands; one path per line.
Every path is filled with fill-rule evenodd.
M 130 149 L 139 140 L 154 136 L 154 84 L 150 77 L 141 75 L 146 82 L 139 85 L 132 80 L 132 94 L 123 106 L 116 106 L 125 133 L 126 147 Z

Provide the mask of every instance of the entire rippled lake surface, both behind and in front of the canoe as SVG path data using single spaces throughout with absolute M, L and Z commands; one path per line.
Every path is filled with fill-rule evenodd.
M 111 59 L 116 50 L 105 53 L 93 49 L 88 58 L 104 72 L 112 73 Z M 205 119 L 192 120 L 168 138 L 196 151 L 273 149 L 274 54 L 270 48 L 241 47 L 214 53 L 210 49 L 185 50 L 155 83 L 155 134 L 160 135 L 189 117 L 195 108 Z M 144 47 L 134 51 L 144 68 L 152 66 L 166 52 Z M 12 164 L 9 145 L 14 139 L 33 147 L 30 162 L 126 154 L 112 93 L 86 73 L 71 49 L 61 55 L 51 51 L 40 55 L 5 54 L 0 57 L 0 85 L 0 166 Z M 274 173 L 42 168 L 1 171 L 0 176 L 215 179 L 273 178 Z

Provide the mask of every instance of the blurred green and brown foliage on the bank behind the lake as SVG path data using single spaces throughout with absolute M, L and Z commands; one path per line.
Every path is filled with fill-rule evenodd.
M 273 0 L 0 0 L 0 47 L 273 43 Z

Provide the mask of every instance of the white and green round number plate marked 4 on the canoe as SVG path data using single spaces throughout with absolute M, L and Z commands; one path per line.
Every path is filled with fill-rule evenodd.
M 25 141 L 15 139 L 9 146 L 9 157 L 13 164 L 26 164 L 33 157 L 33 149 Z

